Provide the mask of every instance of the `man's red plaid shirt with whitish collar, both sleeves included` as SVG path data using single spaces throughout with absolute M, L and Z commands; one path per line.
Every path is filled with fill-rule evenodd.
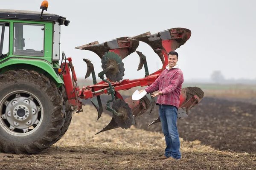
M 157 96 L 157 105 L 173 105 L 179 108 L 183 81 L 183 73 L 179 66 L 175 65 L 169 69 L 169 65 L 167 65 L 156 81 L 145 88 L 145 91 L 147 93 L 161 91 L 163 96 Z

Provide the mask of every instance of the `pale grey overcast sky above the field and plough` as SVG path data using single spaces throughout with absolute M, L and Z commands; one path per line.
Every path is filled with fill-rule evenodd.
M 43 0 L 8 0 L 2 9 L 40 11 Z M 208 79 L 220 70 L 224 77 L 256 79 L 256 1 L 255 0 L 48 0 L 48 13 L 70 20 L 61 28 L 61 51 L 73 57 L 77 77 L 84 77 L 83 58 L 93 61 L 96 73 L 102 71 L 100 58 L 91 51 L 75 49 L 98 40 L 151 34 L 169 28 L 190 29 L 190 39 L 178 48 L 178 64 L 184 79 Z M 161 68 L 152 48 L 140 42 L 138 51 L 147 57 L 149 72 Z M 142 78 L 137 71 L 136 53 L 123 60 L 123 79 Z

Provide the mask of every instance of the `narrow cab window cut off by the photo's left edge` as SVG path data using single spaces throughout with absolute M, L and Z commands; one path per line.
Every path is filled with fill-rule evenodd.
M 9 55 L 9 23 L 0 22 L 0 59 Z

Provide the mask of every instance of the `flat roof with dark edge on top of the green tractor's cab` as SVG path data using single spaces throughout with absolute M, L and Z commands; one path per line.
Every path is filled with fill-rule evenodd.
M 0 9 L 0 19 L 16 19 L 16 20 L 38 20 L 38 21 L 57 21 L 64 23 L 65 17 L 56 14 L 43 13 L 40 18 L 41 12 L 39 11 L 24 11 L 13 9 Z

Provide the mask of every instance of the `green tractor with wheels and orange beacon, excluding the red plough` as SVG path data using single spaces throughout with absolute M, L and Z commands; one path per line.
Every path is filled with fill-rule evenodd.
M 72 118 L 58 64 L 60 27 L 70 21 L 42 15 L 47 6 L 42 3 L 42 12 L 0 10 L 0 150 L 6 153 L 49 147 Z

